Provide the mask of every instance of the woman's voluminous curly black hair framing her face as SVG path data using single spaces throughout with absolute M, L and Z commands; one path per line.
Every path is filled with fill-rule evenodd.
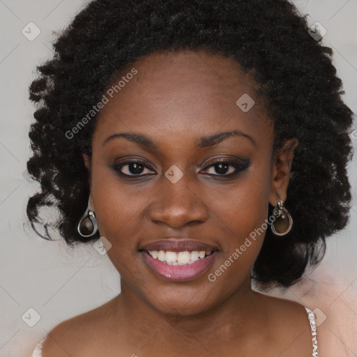
M 45 227 L 40 208 L 54 206 L 55 227 L 73 248 L 93 243 L 77 233 L 89 199 L 89 171 L 96 116 L 75 138 L 66 132 L 93 109 L 114 79 L 140 56 L 166 50 L 205 50 L 231 56 L 252 73 L 273 119 L 273 149 L 298 139 L 287 190 L 294 225 L 283 239 L 266 231 L 252 267 L 257 286 L 287 288 L 307 264 L 324 257 L 326 237 L 349 222 L 353 112 L 341 96 L 333 50 L 308 33 L 307 15 L 286 0 L 96 0 L 59 34 L 54 56 L 37 67 L 29 93 L 36 121 L 27 162 L 40 192 L 29 197 L 31 227 Z M 269 204 L 269 216 L 273 207 Z M 35 229 L 36 230 L 36 229 Z M 38 231 L 36 231 L 38 233 Z M 39 234 L 39 233 L 38 233 Z

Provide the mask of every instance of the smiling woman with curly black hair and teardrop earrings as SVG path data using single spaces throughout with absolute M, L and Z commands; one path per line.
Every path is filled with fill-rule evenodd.
M 121 294 L 47 356 L 318 356 L 298 282 L 345 227 L 352 112 L 332 50 L 278 1 L 89 3 L 30 88 L 29 174 L 69 246 L 101 239 Z M 35 355 L 35 354 L 34 354 Z

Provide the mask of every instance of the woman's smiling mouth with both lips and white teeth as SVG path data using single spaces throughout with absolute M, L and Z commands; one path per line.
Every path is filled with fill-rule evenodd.
M 174 238 L 149 243 L 139 249 L 154 273 L 173 282 L 189 281 L 202 275 L 213 264 L 218 251 L 213 245 Z

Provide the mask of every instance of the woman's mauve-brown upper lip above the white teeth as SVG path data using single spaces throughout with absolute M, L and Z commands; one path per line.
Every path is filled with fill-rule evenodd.
M 218 247 L 190 238 L 165 238 L 160 241 L 146 243 L 139 250 L 165 250 L 169 252 L 183 252 L 185 250 L 190 252 L 198 250 L 201 252 L 204 250 L 205 252 L 211 252 L 212 250 L 218 250 Z

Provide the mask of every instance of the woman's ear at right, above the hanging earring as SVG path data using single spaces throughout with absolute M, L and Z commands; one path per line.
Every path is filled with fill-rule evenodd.
M 298 146 L 297 139 L 287 140 L 282 146 L 282 149 L 273 155 L 271 195 L 269 202 L 274 207 L 281 199 L 284 202 L 287 199 L 287 187 L 290 181 L 291 164 L 296 146 Z

